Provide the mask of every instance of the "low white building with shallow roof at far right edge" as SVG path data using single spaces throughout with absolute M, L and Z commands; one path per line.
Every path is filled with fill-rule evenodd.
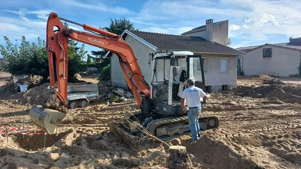
M 288 77 L 299 74 L 301 63 L 301 38 L 290 42 L 240 47 L 245 51 L 240 59 L 240 68 L 245 75 L 274 74 Z

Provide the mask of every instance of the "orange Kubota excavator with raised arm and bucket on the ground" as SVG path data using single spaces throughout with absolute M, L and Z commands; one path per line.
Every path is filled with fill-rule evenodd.
M 61 20 L 82 26 L 88 32 L 68 29 Z M 152 54 L 153 72 L 149 85 L 144 80 L 134 52 L 121 35 L 78 24 L 59 17 L 56 13 L 51 13 L 47 22 L 47 54 L 52 91 L 43 106 L 34 106 L 29 112 L 31 120 L 38 127 L 53 134 L 68 111 L 68 38 L 106 49 L 118 56 L 128 87 L 141 109 L 141 112 L 130 117 L 131 121 L 139 122 L 151 134 L 163 140 L 190 132 L 187 111 L 181 108 L 179 95 L 188 78 L 196 79 L 196 85 L 200 87 L 205 86 L 201 56 L 195 56 L 190 51 Z M 200 117 L 199 124 L 202 130 L 215 129 L 219 120 L 215 116 Z M 130 134 L 139 135 L 138 131 L 129 128 L 126 124 L 118 127 Z

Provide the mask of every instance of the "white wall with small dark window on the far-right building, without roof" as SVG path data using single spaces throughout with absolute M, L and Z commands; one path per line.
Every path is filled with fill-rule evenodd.
M 272 57 L 263 58 L 263 48 L 269 47 L 272 48 Z M 245 75 L 275 74 L 288 77 L 298 74 L 300 51 L 265 45 L 247 52 L 242 63 Z

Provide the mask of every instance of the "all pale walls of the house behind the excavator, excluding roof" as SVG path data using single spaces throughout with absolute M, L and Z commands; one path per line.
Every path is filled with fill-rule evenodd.
M 155 53 L 155 51 L 146 45 L 143 45 L 138 40 L 135 40 L 130 35 L 125 37 L 125 41 L 128 42 L 130 47 L 132 47 L 135 56 L 137 57 L 137 61 L 141 68 L 141 72 L 144 74 L 144 78 L 146 82 L 151 83 L 151 74 L 152 65 L 148 65 L 148 55 L 151 53 Z M 198 53 L 194 53 L 199 55 Z M 206 86 L 211 86 L 212 92 L 217 92 L 222 90 L 222 85 L 227 85 L 229 87 L 236 86 L 236 56 L 231 55 L 219 55 L 219 54 L 200 54 L 203 57 L 207 58 L 208 69 L 205 72 L 205 84 Z M 221 58 L 229 58 L 229 72 L 221 73 L 220 72 L 220 60 Z M 158 72 L 162 72 L 163 69 L 158 69 Z M 168 72 L 168 67 L 166 67 L 166 71 Z M 201 78 L 201 73 L 199 77 L 195 77 L 196 79 Z M 118 57 L 116 54 L 112 54 L 111 56 L 111 84 L 113 86 L 127 86 L 125 81 L 123 72 L 121 70 L 121 66 L 118 61 Z

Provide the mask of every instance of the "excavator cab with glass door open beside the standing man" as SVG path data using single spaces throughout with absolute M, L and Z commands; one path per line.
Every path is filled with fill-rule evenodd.
M 180 95 L 186 88 L 185 81 L 193 78 L 196 86 L 204 88 L 203 62 L 201 56 L 191 51 L 172 51 L 153 56 L 151 94 L 155 111 L 162 115 L 183 115 Z

